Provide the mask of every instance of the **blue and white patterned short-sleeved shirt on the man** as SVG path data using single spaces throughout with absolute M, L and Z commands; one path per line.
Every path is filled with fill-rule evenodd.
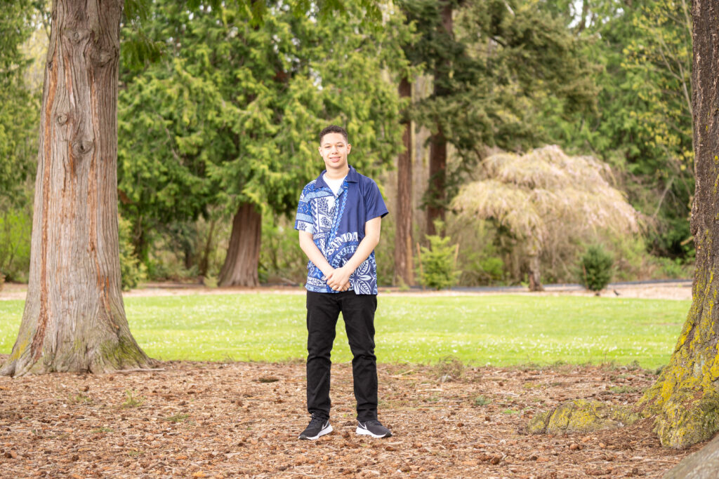
M 322 172 L 302 190 L 297 208 L 295 229 L 312 233 L 314 243 L 333 268 L 344 266 L 362 238 L 365 223 L 388 213 L 380 189 L 370 178 L 353 167 L 335 196 L 324 181 Z M 323 279 L 324 274 L 312 261 L 307 264 L 307 291 L 336 293 Z M 349 276 L 349 289 L 355 294 L 377 294 L 375 252 Z

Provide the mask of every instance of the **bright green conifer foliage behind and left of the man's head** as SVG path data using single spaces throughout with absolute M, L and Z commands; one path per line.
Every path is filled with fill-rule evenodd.
M 183 231 L 245 203 L 294 213 L 321 171 L 316 135 L 326 124 L 347 127 L 350 161 L 365 174 L 397 154 L 400 104 L 383 78 L 403 65 L 398 19 L 377 31 L 354 3 L 326 18 L 269 4 L 253 26 L 239 2 L 154 5 L 144 28 L 165 55 L 124 71 L 119 95 L 121 210 L 143 261 L 162 225 Z

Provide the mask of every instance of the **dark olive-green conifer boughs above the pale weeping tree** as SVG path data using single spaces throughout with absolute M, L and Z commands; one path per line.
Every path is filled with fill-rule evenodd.
M 442 27 L 448 4 L 454 9 L 452 34 Z M 596 88 L 580 52 L 582 41 L 543 8 L 544 2 L 411 0 L 400 5 L 417 31 L 406 55 L 413 65 L 425 65 L 434 82 L 434 91 L 411 106 L 411 117 L 432 133 L 441 131 L 462 159 L 451 165 L 448 200 L 486 147 L 516 151 L 546 141 L 544 118 L 537 114 L 544 98 L 567 114 L 594 105 Z M 426 203 L 446 206 L 439 204 L 442 195 L 428 193 Z

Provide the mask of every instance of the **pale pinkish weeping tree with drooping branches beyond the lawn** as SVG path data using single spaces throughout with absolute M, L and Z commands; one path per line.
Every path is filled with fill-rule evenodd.
M 482 162 L 482 180 L 464 185 L 452 206 L 507 231 L 524 258 L 529 289 L 541 291 L 540 255 L 547 245 L 638 232 L 638 212 L 610 178 L 607 164 L 568 157 L 555 146 L 521 156 L 499 153 Z

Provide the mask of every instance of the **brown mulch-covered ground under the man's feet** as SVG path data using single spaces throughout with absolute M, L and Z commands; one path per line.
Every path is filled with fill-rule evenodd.
M 565 399 L 633 404 L 655 379 L 646 371 L 452 366 L 380 366 L 380 419 L 394 436 L 372 440 L 354 434 L 351 366 L 334 365 L 334 432 L 313 442 L 297 440 L 308 422 L 301 363 L 0 377 L 0 476 L 656 478 L 701 447 L 661 447 L 649 420 L 523 433 Z

